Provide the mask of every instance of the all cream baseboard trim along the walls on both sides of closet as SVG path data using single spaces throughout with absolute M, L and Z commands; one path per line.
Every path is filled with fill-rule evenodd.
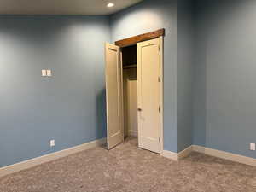
M 104 144 L 106 144 L 106 138 L 95 140 L 90 143 L 84 143 L 79 146 L 75 146 L 73 148 L 67 148 L 67 149 L 52 153 L 52 154 L 45 154 L 44 156 L 37 157 L 37 158 L 31 159 L 31 160 L 22 161 L 20 163 L 14 164 L 14 165 L 4 166 L 4 167 L 0 168 L 0 177 L 3 177 L 5 175 L 8 175 L 13 172 L 20 172 L 21 170 L 31 168 L 32 166 L 38 166 L 40 164 L 43 164 L 43 163 L 46 163 L 46 162 L 49 162 L 52 160 L 60 159 L 61 157 L 65 157 L 69 154 L 75 154 L 80 151 L 84 151 L 86 149 L 95 148 L 97 146 L 102 146 Z M 178 161 L 178 160 L 181 160 L 184 157 L 188 156 L 192 151 L 199 152 L 202 154 L 208 154 L 208 155 L 222 158 L 225 160 L 235 161 L 235 162 L 246 164 L 249 166 L 256 166 L 256 159 L 253 159 L 253 158 L 250 158 L 247 156 L 242 156 L 239 154 L 231 154 L 228 152 L 219 151 L 219 150 L 212 149 L 212 148 L 205 148 L 205 147 L 201 147 L 198 145 L 191 145 L 191 146 L 189 146 L 189 148 L 185 148 L 183 151 L 181 151 L 179 153 L 174 153 L 172 151 L 163 150 L 161 155 L 168 159 Z

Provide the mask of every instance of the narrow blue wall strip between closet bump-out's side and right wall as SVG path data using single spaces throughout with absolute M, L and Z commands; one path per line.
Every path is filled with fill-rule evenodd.
M 203 3 L 195 1 L 194 24 L 195 24 L 195 54 L 194 54 L 194 80 L 193 80 L 193 144 L 206 146 L 207 127 L 207 70 L 206 70 L 206 37 L 210 22 L 203 21 Z M 208 25 L 208 27 L 207 27 Z

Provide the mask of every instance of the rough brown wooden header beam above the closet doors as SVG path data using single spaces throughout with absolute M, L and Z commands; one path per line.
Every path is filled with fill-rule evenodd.
M 133 44 L 137 44 L 139 42 L 142 41 L 147 41 L 153 38 L 159 38 L 160 36 L 164 36 L 165 35 L 165 29 L 159 29 L 156 30 L 154 32 L 147 32 L 141 35 L 137 35 L 131 38 L 125 38 L 119 41 L 115 42 L 115 45 L 119 46 L 119 47 L 127 47 Z

